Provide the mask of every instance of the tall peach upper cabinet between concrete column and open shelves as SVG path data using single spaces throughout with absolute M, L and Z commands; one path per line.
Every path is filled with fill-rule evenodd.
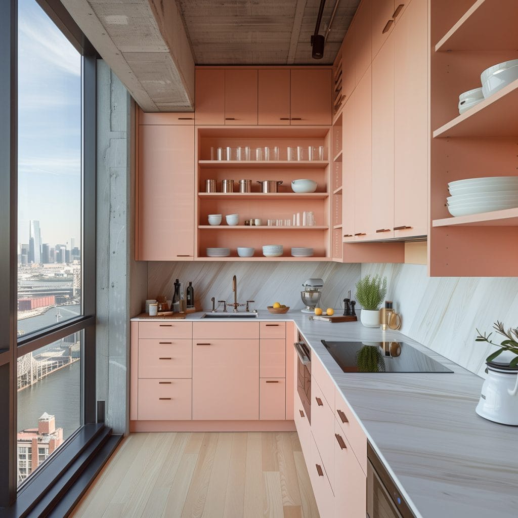
M 139 125 L 137 261 L 194 260 L 194 167 L 193 125 Z

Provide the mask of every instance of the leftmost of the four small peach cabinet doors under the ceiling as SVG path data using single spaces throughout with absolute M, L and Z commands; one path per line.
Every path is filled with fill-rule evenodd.
M 194 92 L 196 124 L 225 124 L 225 70 L 196 68 Z

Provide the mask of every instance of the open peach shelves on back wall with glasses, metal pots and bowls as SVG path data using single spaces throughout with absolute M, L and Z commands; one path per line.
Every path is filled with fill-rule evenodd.
M 329 127 L 212 126 L 196 131 L 196 260 L 329 260 Z M 217 160 L 228 156 L 257 156 L 260 160 Z M 315 156 L 319 160 L 308 160 Z M 266 157 L 277 160 L 264 160 Z M 300 188 L 313 192 L 294 192 Z M 232 214 L 234 221 L 227 224 L 226 216 Z M 217 218 L 209 221 L 209 215 Z M 221 222 L 214 224 L 219 215 Z M 265 257 L 262 247 L 270 244 L 282 244 L 282 255 Z M 254 255 L 239 257 L 237 249 L 247 247 L 255 249 Z M 313 255 L 292 257 L 291 249 L 297 247 L 312 249 Z M 228 255 L 225 250 L 225 256 L 209 257 L 219 253 L 209 253 L 211 248 L 229 249 Z

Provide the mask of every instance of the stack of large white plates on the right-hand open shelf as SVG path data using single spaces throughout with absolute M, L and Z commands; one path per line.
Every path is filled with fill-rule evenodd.
M 480 214 L 518 207 L 518 177 L 467 178 L 448 184 L 448 211 L 452 216 Z

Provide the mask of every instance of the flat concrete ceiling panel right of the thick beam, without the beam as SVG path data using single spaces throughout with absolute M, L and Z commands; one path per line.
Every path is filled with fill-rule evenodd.
M 320 0 L 176 0 L 197 65 L 332 64 L 359 0 L 327 0 L 324 57 L 311 58 Z

